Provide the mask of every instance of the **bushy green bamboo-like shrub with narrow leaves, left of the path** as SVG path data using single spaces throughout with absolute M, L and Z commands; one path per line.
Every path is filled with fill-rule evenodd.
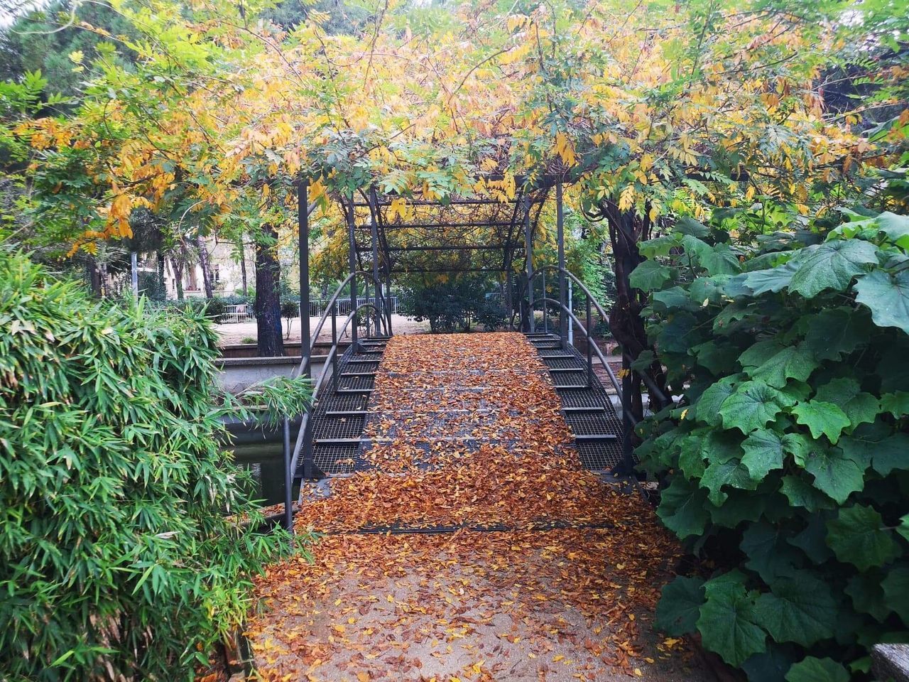
M 191 679 L 242 621 L 286 543 L 238 520 L 216 341 L 0 250 L 0 677 Z

